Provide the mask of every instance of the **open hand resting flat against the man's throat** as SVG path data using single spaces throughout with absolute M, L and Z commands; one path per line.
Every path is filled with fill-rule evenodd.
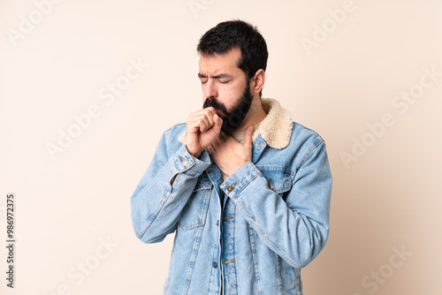
M 254 125 L 248 126 L 244 134 L 244 143 L 235 140 L 231 134 L 220 132 L 216 140 L 208 147 L 210 155 L 220 170 L 231 176 L 240 166 L 252 161 L 252 137 Z

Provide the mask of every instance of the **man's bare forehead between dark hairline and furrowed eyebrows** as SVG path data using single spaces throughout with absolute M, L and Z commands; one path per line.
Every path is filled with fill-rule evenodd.
M 215 74 L 220 72 L 242 72 L 237 66 L 240 59 L 241 51 L 238 48 L 232 48 L 223 54 L 214 56 L 200 56 L 200 73 Z

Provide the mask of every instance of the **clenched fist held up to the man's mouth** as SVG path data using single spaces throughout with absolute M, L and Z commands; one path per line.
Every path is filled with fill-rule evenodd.
M 204 148 L 217 138 L 221 132 L 223 119 L 215 108 L 209 107 L 190 113 L 187 117 L 186 147 L 190 155 L 198 157 Z

